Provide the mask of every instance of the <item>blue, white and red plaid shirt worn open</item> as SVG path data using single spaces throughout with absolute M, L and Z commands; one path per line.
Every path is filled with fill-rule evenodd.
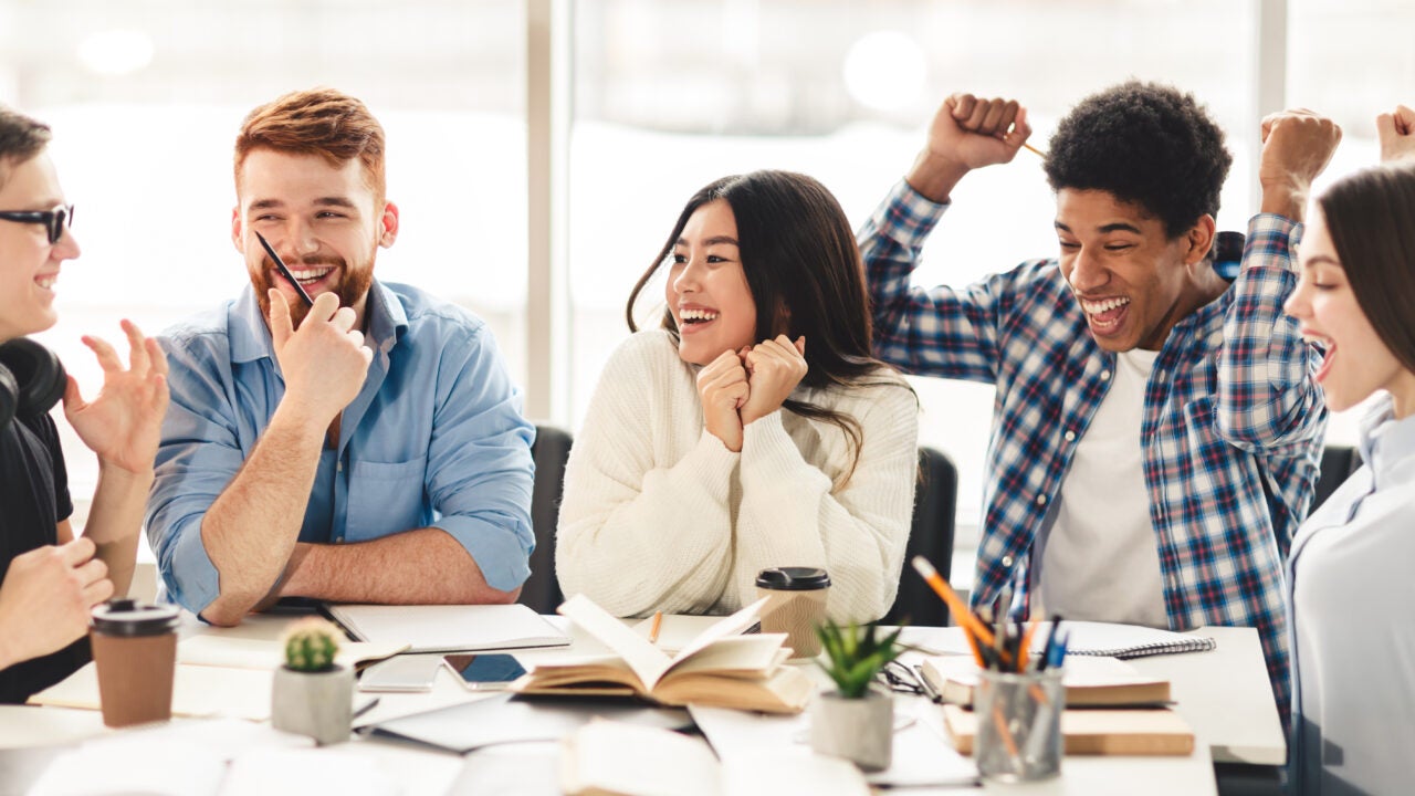
M 998 388 L 972 602 L 992 603 L 1010 582 L 1026 606 L 1033 540 L 1115 354 L 1091 337 L 1056 259 L 962 289 L 913 288 L 947 207 L 900 181 L 860 228 L 874 350 L 906 373 Z M 1285 725 L 1283 558 L 1312 500 L 1327 416 L 1313 378 L 1320 354 L 1282 312 L 1300 234 L 1279 215 L 1254 217 L 1238 279 L 1165 341 L 1139 438 L 1170 627 L 1257 627 Z

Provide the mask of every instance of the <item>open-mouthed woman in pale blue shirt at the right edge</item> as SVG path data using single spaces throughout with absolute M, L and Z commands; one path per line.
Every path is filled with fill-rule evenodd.
M 1382 127 L 1387 152 L 1394 129 Z M 1404 129 L 1405 143 L 1415 143 Z M 1380 397 L 1361 425 L 1365 465 L 1292 542 L 1289 785 L 1299 795 L 1407 793 L 1415 751 L 1415 161 L 1346 177 L 1313 205 L 1288 314 L 1324 350 L 1316 378 L 1332 409 Z

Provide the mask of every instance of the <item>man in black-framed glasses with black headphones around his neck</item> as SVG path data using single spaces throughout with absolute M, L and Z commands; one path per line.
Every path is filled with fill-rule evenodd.
M 89 609 L 126 593 L 167 406 L 156 340 L 123 322 L 130 367 L 96 337 L 103 368 L 85 401 L 58 360 L 25 334 L 58 320 L 54 285 L 79 255 L 74 205 L 45 147 L 50 127 L 0 106 L 0 703 L 23 703 L 89 660 Z M 75 538 L 64 452 L 48 411 L 64 414 L 99 460 L 83 534 Z

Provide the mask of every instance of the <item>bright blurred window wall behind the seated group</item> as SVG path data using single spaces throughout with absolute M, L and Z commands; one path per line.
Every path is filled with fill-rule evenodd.
M 83 256 L 40 339 L 88 392 L 100 374 L 81 334 L 116 340 L 120 317 L 156 333 L 245 285 L 229 235 L 236 129 L 255 105 L 328 85 L 388 130 L 402 231 L 378 275 L 483 316 L 528 414 L 573 431 L 627 334 L 631 286 L 710 180 L 805 171 L 859 224 L 948 93 L 1019 99 L 1046 149 L 1077 99 L 1135 76 L 1194 92 L 1225 127 L 1218 227 L 1244 229 L 1261 116 L 1337 119 L 1323 183 L 1374 163 L 1374 116 L 1415 102 L 1412 30 L 1402 0 L 0 0 L 0 102 L 55 130 Z M 1030 153 L 954 198 L 918 280 L 961 285 L 1054 252 Z M 959 466 L 966 548 L 992 390 L 916 387 L 923 442 Z M 1357 414 L 1336 418 L 1333 440 L 1353 439 Z M 83 499 L 96 462 L 68 442 Z

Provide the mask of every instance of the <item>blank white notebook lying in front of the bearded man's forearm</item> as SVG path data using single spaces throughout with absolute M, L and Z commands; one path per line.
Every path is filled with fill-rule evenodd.
M 529 608 L 514 605 L 325 606 L 355 639 L 406 643 L 410 653 L 563 647 L 570 637 Z

